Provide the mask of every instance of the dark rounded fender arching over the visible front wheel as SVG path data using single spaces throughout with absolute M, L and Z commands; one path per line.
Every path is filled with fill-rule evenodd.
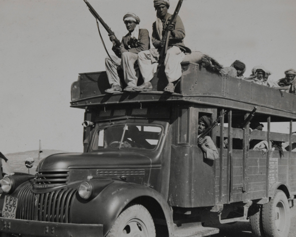
M 97 182 L 100 182 L 100 180 L 97 180 Z M 99 187 L 100 185 L 95 186 Z M 120 181 L 112 182 L 101 190 L 96 197 L 88 201 L 83 200 L 76 193 L 71 214 L 72 223 L 103 224 L 103 234 L 105 236 L 126 205 L 137 198 L 145 197 L 152 198 L 159 204 L 164 213 L 171 236 L 173 232 L 172 210 L 166 200 L 157 191 L 149 187 Z

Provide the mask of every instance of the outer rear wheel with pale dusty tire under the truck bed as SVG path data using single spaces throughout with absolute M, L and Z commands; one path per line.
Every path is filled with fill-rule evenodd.
M 277 214 L 277 211 L 281 213 Z M 279 223 L 275 220 L 277 216 Z M 289 202 L 283 191 L 276 190 L 270 201 L 263 205 L 262 224 L 265 237 L 288 237 L 291 215 Z

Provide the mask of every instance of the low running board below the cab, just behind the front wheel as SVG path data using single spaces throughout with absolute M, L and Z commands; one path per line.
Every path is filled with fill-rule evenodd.
M 218 228 L 203 227 L 201 222 L 174 224 L 174 237 L 205 237 L 219 233 Z

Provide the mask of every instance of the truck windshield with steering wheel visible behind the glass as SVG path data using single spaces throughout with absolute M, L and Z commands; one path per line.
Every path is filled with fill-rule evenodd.
M 153 150 L 160 140 L 161 133 L 162 127 L 155 125 L 113 125 L 95 132 L 92 150 L 104 148 Z

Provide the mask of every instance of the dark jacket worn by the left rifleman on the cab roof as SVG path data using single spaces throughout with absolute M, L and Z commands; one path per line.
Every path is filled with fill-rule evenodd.
M 139 39 L 131 38 L 128 33 L 126 36 L 122 37 L 121 45 L 131 53 L 138 54 L 141 51 L 148 50 L 150 48 L 150 38 L 149 32 L 146 29 L 139 29 Z M 130 47 L 129 47 L 130 46 Z M 120 57 L 118 53 L 118 48 L 112 47 L 114 53 Z

